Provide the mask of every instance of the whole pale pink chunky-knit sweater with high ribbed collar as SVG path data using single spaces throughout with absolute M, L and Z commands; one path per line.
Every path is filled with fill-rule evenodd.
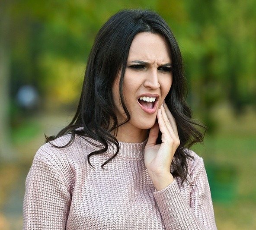
M 53 143 L 61 146 L 69 138 Z M 176 178 L 156 191 L 144 165 L 146 142 L 119 144 L 105 170 L 101 165 L 115 147 L 91 157 L 91 167 L 87 155 L 99 148 L 81 137 L 67 148 L 43 145 L 26 180 L 23 229 L 217 229 L 202 158 L 191 152 L 195 159 L 188 162 L 195 186 Z

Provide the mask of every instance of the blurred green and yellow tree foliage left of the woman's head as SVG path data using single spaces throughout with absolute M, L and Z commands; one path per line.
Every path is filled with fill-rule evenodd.
M 153 6 L 155 2 L 149 0 L 147 4 Z M 16 1 L 12 7 L 15 21 L 13 96 L 20 85 L 32 83 L 39 88 L 44 101 L 47 99 L 46 104 L 72 102 L 78 97 L 80 81 L 77 78 L 83 75 L 85 59 L 100 26 L 112 13 L 128 5 L 136 8 L 140 3 L 128 0 L 112 0 L 107 4 L 103 0 Z M 70 100 L 67 89 L 72 85 L 77 94 L 69 90 Z

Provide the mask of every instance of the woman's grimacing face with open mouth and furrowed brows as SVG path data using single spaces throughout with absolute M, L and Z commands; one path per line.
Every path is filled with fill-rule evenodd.
M 172 60 L 166 41 L 158 34 L 139 33 L 134 37 L 128 55 L 123 82 L 125 105 L 131 120 L 118 128 L 132 135 L 150 129 L 157 117 L 172 81 Z M 120 76 L 113 84 L 113 98 L 118 123 L 126 120 L 119 95 Z M 125 128 L 125 129 L 123 129 Z

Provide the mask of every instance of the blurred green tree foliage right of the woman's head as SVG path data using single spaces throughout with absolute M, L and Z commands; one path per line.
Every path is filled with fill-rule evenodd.
M 237 113 L 255 106 L 256 3 L 184 0 L 177 8 L 174 32 L 185 60 L 188 99 L 211 131 L 217 121 L 212 108 L 217 104 L 226 101 Z M 166 16 L 169 9 L 163 8 Z

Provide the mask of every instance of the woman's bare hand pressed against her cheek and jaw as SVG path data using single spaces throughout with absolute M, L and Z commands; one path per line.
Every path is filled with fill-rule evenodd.
M 149 132 L 144 162 L 154 186 L 159 191 L 173 182 L 170 166 L 180 141 L 176 121 L 165 102 L 157 111 L 157 121 Z M 157 145 L 159 129 L 162 132 L 162 143 Z

